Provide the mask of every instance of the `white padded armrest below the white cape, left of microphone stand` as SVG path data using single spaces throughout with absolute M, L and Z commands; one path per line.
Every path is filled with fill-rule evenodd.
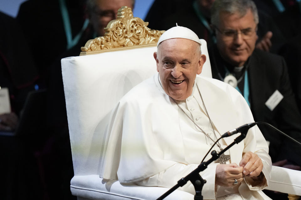
M 104 180 L 98 175 L 74 176 L 71 179 L 71 193 L 88 199 L 106 200 L 154 200 L 169 188 L 143 187 L 133 183 L 120 184 L 118 180 Z M 166 200 L 193 200 L 194 195 L 176 190 Z

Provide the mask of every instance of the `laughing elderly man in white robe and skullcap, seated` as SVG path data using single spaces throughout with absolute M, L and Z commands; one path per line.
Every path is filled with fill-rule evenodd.
M 154 53 L 159 73 L 130 90 L 111 114 L 101 178 L 170 188 L 197 168 L 223 133 L 254 122 L 235 88 L 196 78 L 206 60 L 199 45 L 185 27 L 162 34 Z M 221 139 L 220 147 L 237 136 Z M 214 150 L 220 152 L 217 145 Z M 225 155 L 230 155 L 226 164 L 213 162 L 200 172 L 207 181 L 204 199 L 270 199 L 261 190 L 268 185 L 272 163 L 257 126 Z M 195 194 L 190 182 L 179 189 Z

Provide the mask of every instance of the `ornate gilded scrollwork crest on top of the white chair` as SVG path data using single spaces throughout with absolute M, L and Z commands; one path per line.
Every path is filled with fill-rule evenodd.
M 104 36 L 89 40 L 85 47 L 81 48 L 81 55 L 117 47 L 155 45 L 161 34 L 165 32 L 151 30 L 147 27 L 148 22 L 133 17 L 132 9 L 126 6 L 119 8 L 117 16 L 117 19 L 109 22 L 104 28 L 106 31 Z

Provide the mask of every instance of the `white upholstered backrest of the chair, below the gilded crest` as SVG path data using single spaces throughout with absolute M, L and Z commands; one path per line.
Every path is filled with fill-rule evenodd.
M 61 60 L 75 175 L 98 174 L 111 110 L 131 88 L 157 73 L 153 58 L 156 41 L 152 47 L 129 47 Z M 88 41 L 82 50 L 91 43 Z M 201 43 L 207 57 L 201 76 L 212 77 L 207 43 L 203 39 Z

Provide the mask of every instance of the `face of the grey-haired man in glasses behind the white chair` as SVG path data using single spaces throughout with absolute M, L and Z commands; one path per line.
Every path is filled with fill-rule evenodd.
M 229 30 L 238 32 L 234 37 L 229 38 L 221 32 L 216 31 L 219 53 L 225 61 L 233 66 L 240 67 L 253 53 L 257 40 L 256 23 L 251 9 L 243 17 L 239 14 L 220 12 L 219 19 L 218 28 L 221 32 Z M 252 30 L 252 34 L 246 37 L 241 32 L 244 30 Z

